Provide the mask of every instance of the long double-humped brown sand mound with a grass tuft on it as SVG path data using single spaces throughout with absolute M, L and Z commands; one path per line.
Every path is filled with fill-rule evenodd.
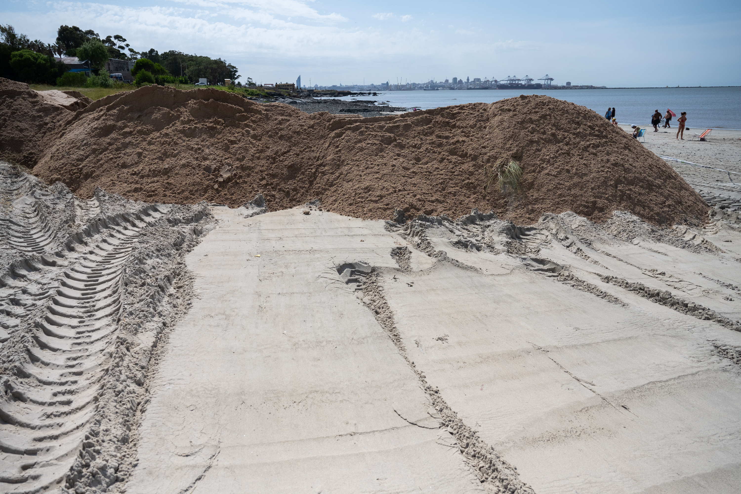
M 70 113 L 71 114 L 71 113 Z M 521 191 L 484 190 L 484 167 L 520 162 Z M 707 206 L 674 170 L 585 107 L 548 96 L 344 119 L 213 89 L 143 87 L 78 110 L 34 173 L 82 196 L 271 209 L 319 198 L 336 213 L 391 218 L 494 210 L 519 224 L 572 210 L 697 222 Z

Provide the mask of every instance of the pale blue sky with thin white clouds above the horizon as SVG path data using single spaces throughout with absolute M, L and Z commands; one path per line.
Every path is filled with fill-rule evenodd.
M 45 42 L 67 24 L 220 57 L 258 83 L 741 85 L 741 1 L 0 0 L 0 19 Z

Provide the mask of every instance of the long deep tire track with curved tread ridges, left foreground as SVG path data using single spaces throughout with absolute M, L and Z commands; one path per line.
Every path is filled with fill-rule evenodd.
M 74 260 L 56 267 L 56 286 L 4 279 L 11 290 L 4 290 L 1 303 L 23 294 L 45 307 L 21 324 L 25 355 L 1 378 L 0 490 L 36 493 L 62 482 L 83 451 L 96 458 L 95 447 L 86 449 L 92 443 L 84 426 L 95 420 L 116 340 L 123 267 L 142 228 L 167 213 L 159 208 L 98 220 L 87 227 L 93 236 L 80 247 L 67 242 L 68 249 L 84 252 L 70 252 Z M 30 271 L 53 269 L 25 264 Z

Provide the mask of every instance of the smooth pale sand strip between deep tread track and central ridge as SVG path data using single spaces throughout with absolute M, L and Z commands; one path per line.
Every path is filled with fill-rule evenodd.
M 127 491 L 483 492 L 449 433 L 399 416 L 430 418 L 430 404 L 333 269 L 393 266 L 398 238 L 332 213 L 213 213 L 219 227 L 187 258 L 196 301 L 153 381 Z

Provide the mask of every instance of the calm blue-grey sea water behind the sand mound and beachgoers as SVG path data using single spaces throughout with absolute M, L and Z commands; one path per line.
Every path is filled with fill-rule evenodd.
M 654 110 L 664 115 L 667 108 L 687 112 L 691 129 L 741 130 L 741 87 L 662 87 L 651 89 L 571 89 L 571 90 L 442 90 L 385 91 L 379 96 L 347 96 L 342 99 L 377 99 L 397 107 L 420 110 L 451 104 L 492 103 L 520 94 L 545 94 L 588 107 L 600 116 L 607 107 L 615 107 L 619 124 L 648 126 Z M 677 127 L 677 118 L 671 126 Z

